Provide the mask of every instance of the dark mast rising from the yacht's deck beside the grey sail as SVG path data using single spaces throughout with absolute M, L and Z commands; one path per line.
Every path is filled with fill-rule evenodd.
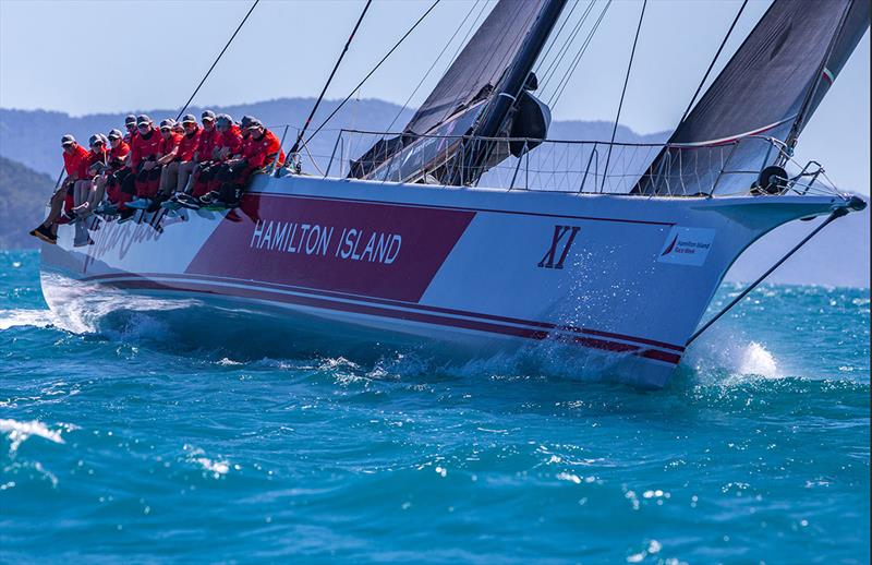
M 514 62 L 509 67 L 505 79 L 500 82 L 496 95 L 491 98 L 487 107 L 482 112 L 480 124 L 473 129 L 473 137 L 496 137 L 499 135 L 506 119 L 518 101 L 518 96 L 530 76 L 530 71 L 533 69 L 566 4 L 567 0 L 547 0 L 542 8 Z M 463 145 L 469 144 L 473 144 L 472 151 L 464 152 L 461 149 L 461 154 L 465 155 L 465 158 L 460 164 L 460 167 L 455 167 L 451 178 L 448 179 L 448 184 L 458 184 L 461 177 L 467 181 L 477 180 L 477 177 L 483 172 L 479 169 L 487 159 L 493 144 L 486 144 L 484 148 L 481 148 L 476 140 L 463 143 Z M 471 179 L 471 177 L 473 178 Z

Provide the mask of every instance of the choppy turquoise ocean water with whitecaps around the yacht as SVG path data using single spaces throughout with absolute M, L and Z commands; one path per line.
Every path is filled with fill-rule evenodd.
M 38 261 L 0 252 L 0 562 L 869 562 L 868 289 L 763 287 L 641 392 L 76 335 Z

